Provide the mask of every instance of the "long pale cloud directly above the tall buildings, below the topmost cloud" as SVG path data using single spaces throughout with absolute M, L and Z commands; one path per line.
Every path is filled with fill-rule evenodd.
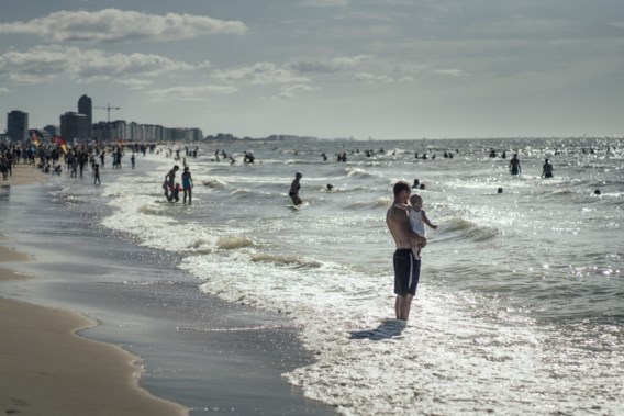
M 67 76 L 78 82 L 97 80 L 130 81 L 137 77 L 152 78 L 163 74 L 191 71 L 205 67 L 193 66 L 159 55 L 109 54 L 102 50 L 82 50 L 59 45 L 37 46 L 25 53 L 0 55 L 0 79 L 11 82 L 40 83 Z

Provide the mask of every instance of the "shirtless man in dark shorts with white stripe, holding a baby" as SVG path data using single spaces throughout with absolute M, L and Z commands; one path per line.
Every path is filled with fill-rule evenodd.
M 394 312 L 397 319 L 408 321 L 421 274 L 421 260 L 414 258 L 412 247 L 416 245 L 424 247 L 427 240 L 414 233 L 410 226 L 410 218 L 405 210 L 412 192 L 410 184 L 399 181 L 394 184 L 392 191 L 394 202 L 388 209 L 386 224 L 397 244 L 397 251 L 393 256 L 394 294 L 397 294 Z

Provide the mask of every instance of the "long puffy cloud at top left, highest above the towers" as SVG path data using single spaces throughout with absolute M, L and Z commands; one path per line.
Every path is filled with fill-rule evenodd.
M 59 11 L 27 22 L 0 23 L 0 33 L 33 34 L 54 42 L 127 42 L 183 40 L 214 34 L 245 34 L 238 21 L 167 13 L 165 15 L 104 9 Z

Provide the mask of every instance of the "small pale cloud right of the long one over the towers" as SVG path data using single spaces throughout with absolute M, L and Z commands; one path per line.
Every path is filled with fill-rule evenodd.
M 256 63 L 250 67 L 231 70 L 215 70 L 211 77 L 225 82 L 250 85 L 310 82 L 310 79 L 298 77 L 289 69 L 279 68 L 270 63 Z

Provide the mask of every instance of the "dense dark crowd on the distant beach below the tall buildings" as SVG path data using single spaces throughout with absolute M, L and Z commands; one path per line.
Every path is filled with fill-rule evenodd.
M 107 158 L 112 159 L 112 169 L 122 169 L 123 157 L 126 151 L 131 151 L 130 161 L 132 168 L 134 168 L 136 154 L 153 153 L 155 148 L 156 145 L 131 144 L 124 146 L 119 143 L 109 146 L 96 143 L 77 144 L 69 149 L 54 143 L 49 145 L 42 145 L 40 142 L 1 144 L 0 170 L 3 180 L 11 177 L 13 166 L 19 164 L 30 165 L 44 173 L 62 175 L 65 170 L 71 178 L 82 178 L 85 168 L 90 166 L 93 183 L 100 184 L 100 169 L 105 167 Z

